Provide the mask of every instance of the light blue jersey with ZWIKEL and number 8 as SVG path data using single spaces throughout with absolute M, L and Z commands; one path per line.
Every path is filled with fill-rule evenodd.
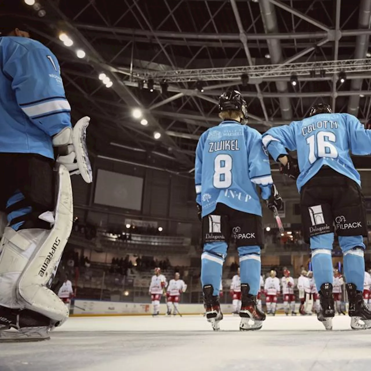
M 223 121 L 201 135 L 194 174 L 202 216 L 214 211 L 218 202 L 261 216 L 256 185 L 267 199 L 273 184 L 262 135 L 237 121 Z

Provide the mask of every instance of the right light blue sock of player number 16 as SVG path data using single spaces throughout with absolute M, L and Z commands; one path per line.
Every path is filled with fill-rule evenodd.
M 354 283 L 357 290 L 363 291 L 365 275 L 363 249 L 354 248 L 344 252 L 344 275 L 347 283 Z

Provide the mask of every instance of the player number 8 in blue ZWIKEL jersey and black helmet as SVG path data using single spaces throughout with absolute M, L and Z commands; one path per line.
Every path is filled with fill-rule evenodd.
M 269 209 L 279 208 L 282 199 L 273 184 L 261 134 L 241 125 L 247 120 L 247 109 L 240 92 L 228 91 L 220 96 L 219 116 L 223 121 L 201 135 L 195 162 L 206 317 L 214 330 L 219 329 L 223 319 L 219 286 L 228 242 L 233 235 L 240 257 L 240 330 L 255 330 L 265 320 L 265 314 L 256 304 L 263 246 L 262 207 L 256 186 L 259 185 Z

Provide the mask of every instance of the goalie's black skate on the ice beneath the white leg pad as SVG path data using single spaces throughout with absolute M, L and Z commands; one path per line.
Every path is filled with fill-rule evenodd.
M 0 342 L 49 340 L 50 329 L 58 325 L 58 322 L 52 324 L 49 318 L 28 309 L 0 306 Z

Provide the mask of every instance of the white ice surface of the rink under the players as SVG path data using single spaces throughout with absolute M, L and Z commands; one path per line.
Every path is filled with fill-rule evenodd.
M 213 332 L 203 316 L 70 318 L 50 341 L 0 344 L 0 371 L 371 370 L 371 330 L 349 324 L 277 315 L 240 332 L 227 315 Z

